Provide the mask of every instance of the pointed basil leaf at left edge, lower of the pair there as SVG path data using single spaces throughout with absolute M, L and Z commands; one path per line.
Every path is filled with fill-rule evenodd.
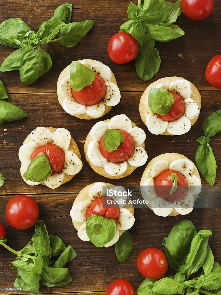
M 28 117 L 27 113 L 8 101 L 0 100 L 0 125 Z

